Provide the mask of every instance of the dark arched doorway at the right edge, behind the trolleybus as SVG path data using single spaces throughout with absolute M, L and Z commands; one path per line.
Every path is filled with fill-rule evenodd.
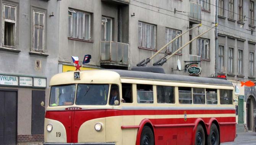
M 246 125 L 248 130 L 255 131 L 256 101 L 253 96 L 249 96 L 246 102 Z

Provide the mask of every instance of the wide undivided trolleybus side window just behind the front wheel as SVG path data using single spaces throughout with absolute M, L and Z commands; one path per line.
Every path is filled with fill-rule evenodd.
M 157 103 L 175 103 L 174 88 L 172 86 L 157 85 Z

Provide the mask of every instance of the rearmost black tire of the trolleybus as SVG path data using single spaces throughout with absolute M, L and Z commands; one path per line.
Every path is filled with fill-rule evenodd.
M 207 145 L 219 145 L 220 136 L 217 126 L 213 123 L 210 134 L 207 136 Z

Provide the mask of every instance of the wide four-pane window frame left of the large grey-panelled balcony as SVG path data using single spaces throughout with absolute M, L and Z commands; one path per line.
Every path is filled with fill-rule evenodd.
M 71 15 L 70 15 L 70 13 Z M 78 35 L 78 26 L 79 26 L 79 18 L 78 18 L 78 12 L 83 13 L 83 39 L 79 38 Z M 77 24 L 76 24 L 76 31 L 77 31 L 77 37 L 73 36 L 73 13 L 77 13 Z M 85 15 L 89 15 L 89 21 L 88 21 L 88 40 L 86 39 L 86 32 L 85 32 Z M 68 19 L 68 23 L 70 23 L 70 28 L 68 27 L 68 38 L 72 38 L 72 39 L 78 39 L 78 40 L 84 40 L 84 41 L 91 41 L 91 13 L 86 12 L 86 11 L 81 11 L 81 10 L 76 10 L 73 8 L 68 8 L 68 17 L 71 17 L 71 22 Z M 69 29 L 70 29 L 70 35 L 69 35 Z

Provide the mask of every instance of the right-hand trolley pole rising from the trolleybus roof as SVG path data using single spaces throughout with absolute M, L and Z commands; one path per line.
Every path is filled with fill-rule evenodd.
M 206 34 L 208 31 L 210 31 L 212 28 L 217 27 L 218 24 L 215 24 L 213 27 L 211 27 L 210 29 L 208 29 L 207 31 L 203 32 L 202 34 L 194 37 L 192 40 L 190 40 L 189 42 L 187 42 L 185 45 L 183 45 L 182 47 L 178 48 L 175 52 L 173 52 L 170 56 L 168 56 L 167 58 L 162 58 L 161 60 L 157 61 L 157 63 L 154 63 L 154 66 L 162 66 L 167 60 L 169 60 L 173 55 L 175 55 L 177 52 L 179 52 L 182 48 L 186 47 L 188 44 L 190 44 L 193 40 L 197 39 L 198 37 L 201 37 L 202 35 Z

